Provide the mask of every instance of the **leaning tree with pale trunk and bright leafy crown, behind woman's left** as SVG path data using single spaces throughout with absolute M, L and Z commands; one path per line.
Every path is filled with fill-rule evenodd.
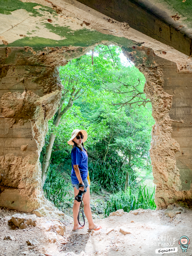
M 60 124 L 61 118 L 65 116 L 66 112 L 73 106 L 74 101 L 80 96 L 83 99 L 91 100 L 94 97 L 94 91 L 99 89 L 101 83 L 112 79 L 110 72 L 108 72 L 111 60 L 110 58 L 105 58 L 105 56 L 102 58 L 102 56 L 99 55 L 99 58 L 96 58 L 94 64 L 93 55 L 92 62 L 87 55 L 84 55 L 81 58 L 70 61 L 65 67 L 60 67 L 60 78 L 63 85 L 63 91 L 59 108 L 53 118 L 52 129 L 43 154 L 42 187 L 44 186 L 47 177 L 52 148 L 56 138 L 56 130 Z M 116 57 L 118 57 L 118 53 L 115 52 L 113 58 L 118 63 L 119 58 Z

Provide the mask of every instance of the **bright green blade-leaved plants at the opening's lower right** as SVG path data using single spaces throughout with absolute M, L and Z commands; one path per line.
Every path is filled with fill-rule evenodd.
M 137 196 L 132 193 L 131 189 L 128 189 L 125 193 L 119 192 L 112 196 L 111 200 L 107 202 L 105 216 L 107 217 L 111 212 L 119 209 L 123 209 L 126 212 L 139 208 L 154 210 L 156 208 L 154 202 L 155 187 L 152 194 L 149 194 L 148 189 L 145 187 L 141 188 L 140 186 Z

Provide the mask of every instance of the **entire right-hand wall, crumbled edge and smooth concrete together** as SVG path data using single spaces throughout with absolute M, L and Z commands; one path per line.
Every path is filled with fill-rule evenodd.
M 125 54 L 145 75 L 144 92 L 152 104 L 155 125 L 152 128 L 150 156 L 157 208 L 165 208 L 177 201 L 190 204 L 191 108 L 190 99 L 184 97 L 190 97 L 190 88 L 186 87 L 191 85 L 192 75 L 178 74 L 176 63 L 159 58 L 151 49 L 133 47 Z

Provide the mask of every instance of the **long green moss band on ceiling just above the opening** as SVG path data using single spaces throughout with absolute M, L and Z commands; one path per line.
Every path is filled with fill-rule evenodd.
M 48 24 L 51 25 L 51 24 Z M 59 34 L 61 37 L 66 37 L 63 40 L 53 40 L 47 39 L 43 37 L 24 37 L 16 40 L 13 43 L 9 43 L 8 47 L 45 47 L 45 46 L 80 46 L 80 47 L 88 47 L 90 45 L 94 45 L 95 43 L 100 43 L 101 41 L 109 41 L 112 43 L 116 43 L 118 45 L 122 45 L 124 47 L 129 47 L 133 45 L 133 42 L 125 37 L 116 37 L 112 35 L 102 34 L 96 30 L 90 29 L 80 29 L 76 31 L 70 31 L 68 27 L 60 27 L 60 26 L 49 26 L 51 31 L 55 34 Z M 56 30 L 54 30 L 56 29 Z M 69 32 L 70 31 L 70 32 Z M 1 45 L 1 47 L 5 47 L 5 45 Z

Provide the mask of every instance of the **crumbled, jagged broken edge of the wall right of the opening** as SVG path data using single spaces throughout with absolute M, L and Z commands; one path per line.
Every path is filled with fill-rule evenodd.
M 169 204 L 178 201 L 177 192 L 180 191 L 179 170 L 176 166 L 176 153 L 180 146 L 171 137 L 172 120 L 169 111 L 172 105 L 172 96 L 164 91 L 163 68 L 168 61 L 154 56 L 154 66 L 143 66 L 146 83 L 144 91 L 152 104 L 152 116 L 155 124 L 152 127 L 150 148 L 153 182 L 156 184 L 155 203 L 157 209 L 166 208 Z M 173 63 L 171 63 L 173 64 Z

